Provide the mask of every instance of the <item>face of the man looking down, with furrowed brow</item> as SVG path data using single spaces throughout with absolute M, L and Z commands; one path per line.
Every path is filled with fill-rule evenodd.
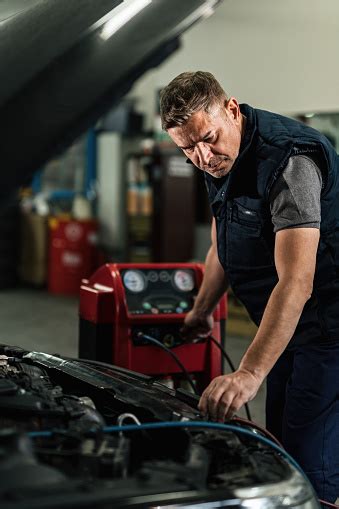
M 231 97 L 210 112 L 194 113 L 186 124 L 168 129 L 168 134 L 195 166 L 221 178 L 231 171 L 238 157 L 242 129 L 239 105 Z

